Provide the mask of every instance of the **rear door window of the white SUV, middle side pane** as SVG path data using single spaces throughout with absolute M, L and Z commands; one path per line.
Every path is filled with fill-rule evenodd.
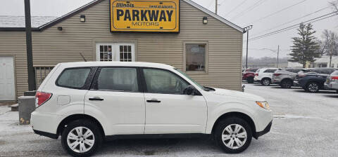
M 97 90 L 138 92 L 136 68 L 101 68 L 96 82 Z

